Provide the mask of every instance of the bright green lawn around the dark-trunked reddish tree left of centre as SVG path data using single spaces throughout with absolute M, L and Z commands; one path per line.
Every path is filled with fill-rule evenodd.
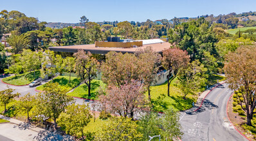
M 105 88 L 105 84 L 100 80 L 93 79 L 91 81 L 91 97 L 88 97 L 88 87 L 86 84 L 82 84 L 75 88 L 75 90 L 73 92 L 69 92 L 68 95 L 85 99 L 97 99 L 99 88 Z

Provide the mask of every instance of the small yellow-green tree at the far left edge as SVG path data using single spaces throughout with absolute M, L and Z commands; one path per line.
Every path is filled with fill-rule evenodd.
M 13 94 L 14 89 L 7 87 L 7 89 L 0 91 L 0 103 L 5 106 L 6 112 L 6 105 L 14 100 L 14 97 L 18 97 L 19 93 Z

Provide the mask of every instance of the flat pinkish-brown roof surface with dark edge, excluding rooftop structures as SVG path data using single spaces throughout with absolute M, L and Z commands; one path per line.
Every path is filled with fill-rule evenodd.
M 131 47 L 131 48 L 121 48 L 121 47 L 95 47 L 95 44 L 86 45 L 75 45 L 75 46 L 59 46 L 59 47 L 49 47 L 51 51 L 59 52 L 69 52 L 76 53 L 78 49 L 84 49 L 84 51 L 89 51 L 93 54 L 107 54 L 109 51 L 116 51 L 121 53 L 135 53 L 138 49 L 144 49 L 147 46 L 151 46 L 153 51 L 157 53 L 162 53 L 163 50 L 170 47 L 169 42 L 162 42 L 157 44 L 143 44 L 141 47 Z

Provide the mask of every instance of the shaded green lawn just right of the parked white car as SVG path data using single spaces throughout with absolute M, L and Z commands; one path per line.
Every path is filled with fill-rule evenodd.
M 56 78 L 53 78 L 53 83 L 55 82 L 59 83 L 59 87 L 64 89 L 66 92 L 68 92 L 69 90 L 77 87 L 77 85 L 80 84 L 80 81 L 76 77 L 71 77 L 70 80 L 71 82 L 69 83 L 69 76 L 57 76 Z M 49 81 L 48 83 L 51 83 L 51 81 Z M 41 85 L 36 89 L 44 90 L 44 85 Z

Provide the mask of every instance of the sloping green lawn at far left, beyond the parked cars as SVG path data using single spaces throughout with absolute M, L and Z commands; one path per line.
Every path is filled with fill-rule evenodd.
M 24 74 L 18 74 L 16 77 L 15 76 L 10 76 L 7 78 L 3 78 L 2 80 L 5 83 L 12 84 L 12 85 L 28 85 L 32 83 L 35 79 L 40 77 L 40 71 L 36 70 L 35 71 L 35 77 L 34 77 L 34 72 L 27 72 Z

